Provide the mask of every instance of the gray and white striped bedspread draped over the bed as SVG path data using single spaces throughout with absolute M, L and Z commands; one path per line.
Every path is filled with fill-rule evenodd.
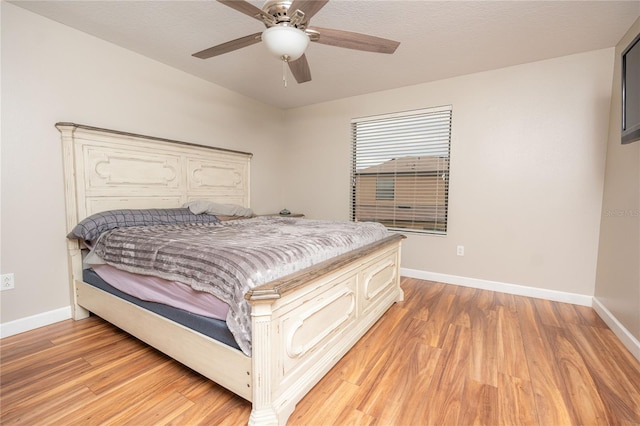
M 257 217 L 118 228 L 100 237 L 94 253 L 116 268 L 180 281 L 225 301 L 227 326 L 250 356 L 249 289 L 387 236 L 374 222 Z

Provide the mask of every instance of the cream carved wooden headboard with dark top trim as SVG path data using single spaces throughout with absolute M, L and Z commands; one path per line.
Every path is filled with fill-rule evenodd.
M 251 154 L 58 123 L 67 231 L 100 211 L 208 199 L 249 207 Z

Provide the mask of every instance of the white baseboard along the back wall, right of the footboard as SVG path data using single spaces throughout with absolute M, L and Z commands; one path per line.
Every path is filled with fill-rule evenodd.
M 427 281 L 437 281 L 440 283 L 455 284 L 464 287 L 479 288 L 482 290 L 498 291 L 500 293 L 516 294 L 518 296 L 535 297 L 538 299 L 553 300 L 554 302 L 571 303 L 581 306 L 592 306 L 593 303 L 592 296 L 548 290 L 545 288 L 528 287 L 518 284 L 481 280 L 478 278 L 468 278 L 457 275 L 440 274 L 437 272 L 427 272 L 407 268 L 401 268 L 400 274 L 410 278 L 418 278 Z

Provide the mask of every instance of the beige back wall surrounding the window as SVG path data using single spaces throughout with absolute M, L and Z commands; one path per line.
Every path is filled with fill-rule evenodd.
M 452 104 L 448 234 L 403 268 L 592 296 L 612 71 L 613 48 L 289 110 L 286 205 L 348 219 L 350 120 Z

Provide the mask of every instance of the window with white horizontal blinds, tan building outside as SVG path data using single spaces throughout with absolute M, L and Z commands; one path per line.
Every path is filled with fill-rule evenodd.
M 451 106 L 351 121 L 351 218 L 445 234 Z

